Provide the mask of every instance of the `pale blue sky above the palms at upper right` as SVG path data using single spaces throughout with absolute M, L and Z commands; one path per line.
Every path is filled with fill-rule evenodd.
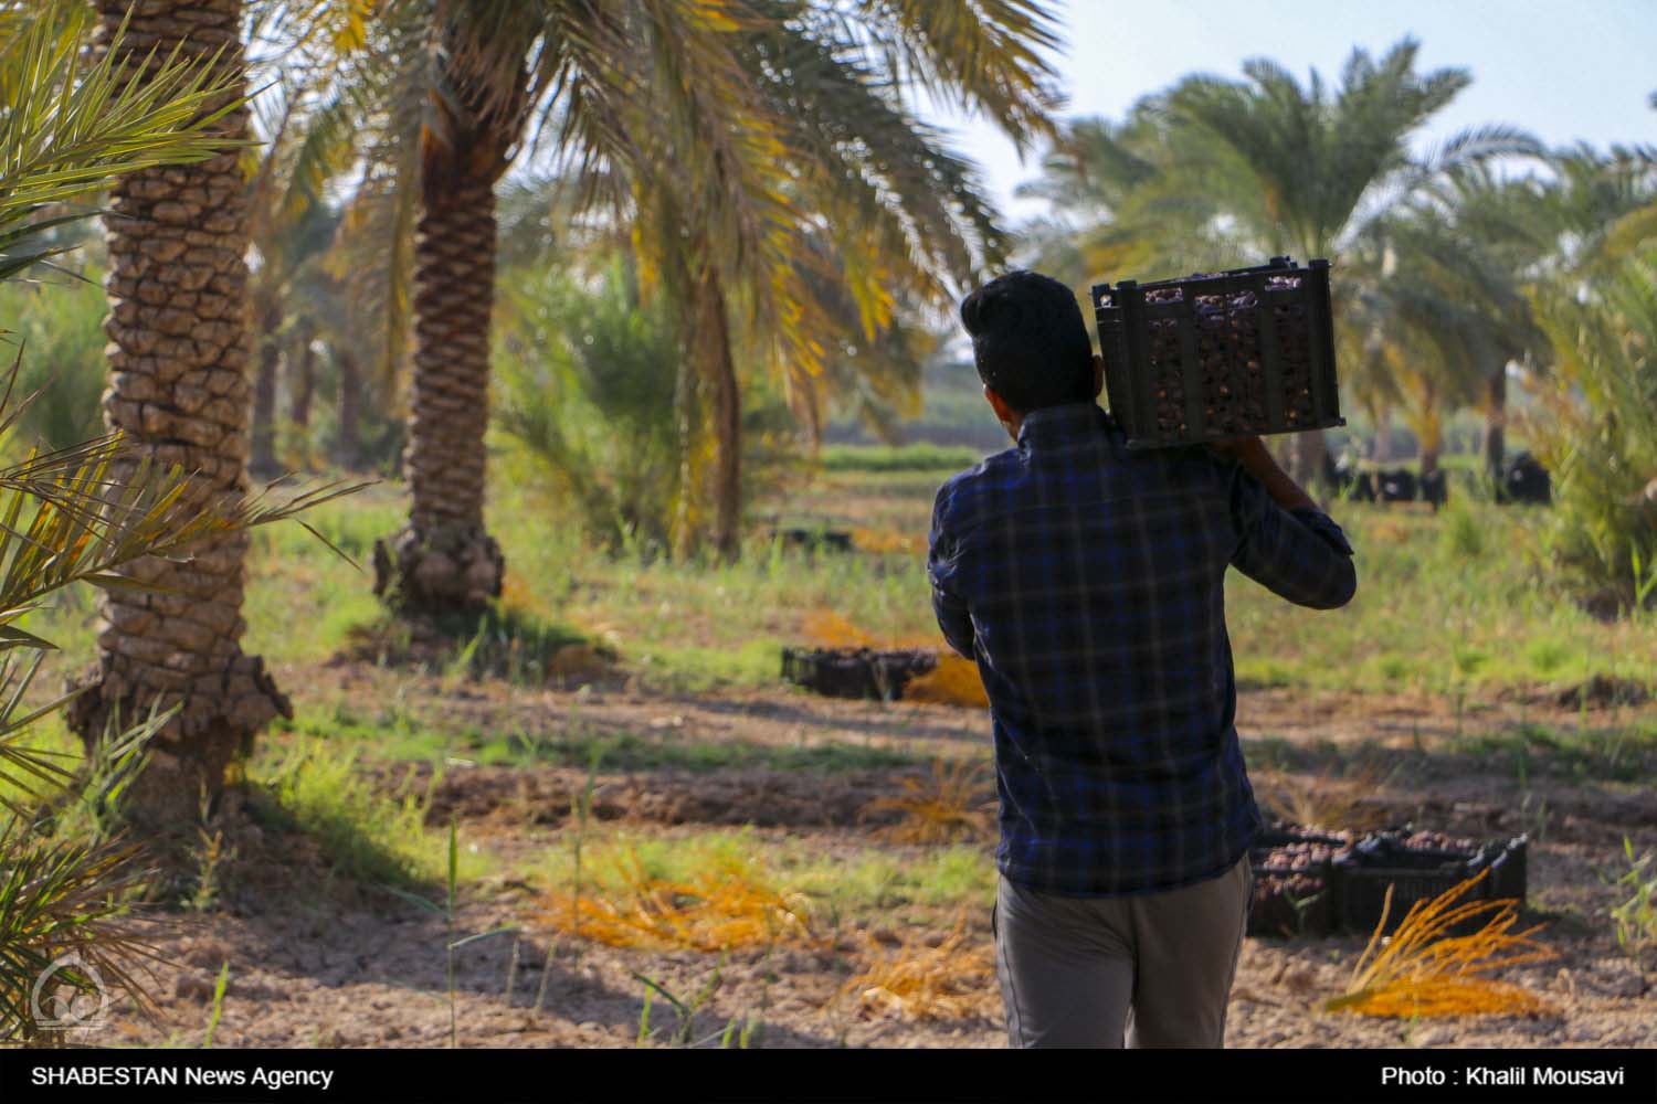
M 1360 46 L 1379 58 L 1405 35 L 1417 73 L 1465 68 L 1473 84 L 1422 129 L 1417 147 L 1466 126 L 1518 124 L 1549 146 L 1587 141 L 1657 146 L 1657 0 L 1069 0 L 1064 118 L 1120 119 L 1143 94 L 1186 73 L 1241 78 L 1246 58 L 1273 58 L 1306 84 L 1326 84 Z M 1012 222 L 1042 210 L 1012 189 L 1036 175 L 993 124 L 936 114 L 984 169 Z

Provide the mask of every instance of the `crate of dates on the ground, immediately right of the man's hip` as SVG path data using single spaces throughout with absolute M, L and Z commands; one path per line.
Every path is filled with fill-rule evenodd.
M 1355 836 L 1274 824 L 1249 847 L 1254 897 L 1249 935 L 1329 935 L 1339 915 L 1334 861 L 1352 851 Z

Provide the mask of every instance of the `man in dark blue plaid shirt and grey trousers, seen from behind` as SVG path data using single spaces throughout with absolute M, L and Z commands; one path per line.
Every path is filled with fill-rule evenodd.
M 1258 437 L 1128 452 L 1062 283 L 1001 276 L 961 319 L 1016 447 L 938 492 L 928 571 L 994 720 L 1007 1036 L 1220 1046 L 1263 826 L 1225 573 L 1334 609 L 1352 548 Z

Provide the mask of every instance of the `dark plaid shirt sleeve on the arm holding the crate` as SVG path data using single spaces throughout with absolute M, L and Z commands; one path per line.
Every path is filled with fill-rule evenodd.
M 1231 480 L 1238 546 L 1231 564 L 1296 606 L 1336 609 L 1352 601 L 1352 545 L 1322 510 L 1284 510 L 1241 467 Z

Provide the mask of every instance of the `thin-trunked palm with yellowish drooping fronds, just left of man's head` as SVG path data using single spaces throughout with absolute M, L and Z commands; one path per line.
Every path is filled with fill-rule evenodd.
M 1012 7 L 998 15 L 1009 18 Z M 1054 41 L 1046 15 L 1024 7 L 1014 13 L 1021 20 L 991 36 L 999 48 L 983 48 L 974 40 L 991 23 L 961 5 L 931 5 L 930 22 L 908 30 L 867 5 L 857 33 L 814 18 L 805 3 L 771 5 L 769 18 L 732 43 L 734 84 L 722 98 L 764 126 L 775 157 L 746 167 L 736 187 L 708 189 L 671 170 L 671 132 L 653 136 L 650 166 L 666 170 L 633 174 L 635 242 L 676 303 L 711 414 L 708 449 L 686 452 L 709 457 L 708 513 L 722 558 L 737 554 L 741 538 L 741 366 L 779 376 L 815 440 L 837 382 L 882 382 L 890 369 L 873 353 L 890 348 L 901 328 L 900 301 L 948 308 L 1006 258 L 1006 237 L 973 166 L 913 116 L 906 78 L 883 68 L 882 51 L 860 35 L 898 43 L 921 31 L 913 65 L 1022 142 L 1051 129 L 1052 98 L 1034 46 Z M 951 58 L 973 61 L 951 66 Z M 646 109 L 663 116 L 659 106 Z M 651 136 L 645 119 L 635 132 Z M 741 170 L 741 161 L 732 162 Z M 711 169 L 714 179 L 731 175 Z M 742 242 L 744 223 L 767 227 L 757 248 L 731 248 Z

